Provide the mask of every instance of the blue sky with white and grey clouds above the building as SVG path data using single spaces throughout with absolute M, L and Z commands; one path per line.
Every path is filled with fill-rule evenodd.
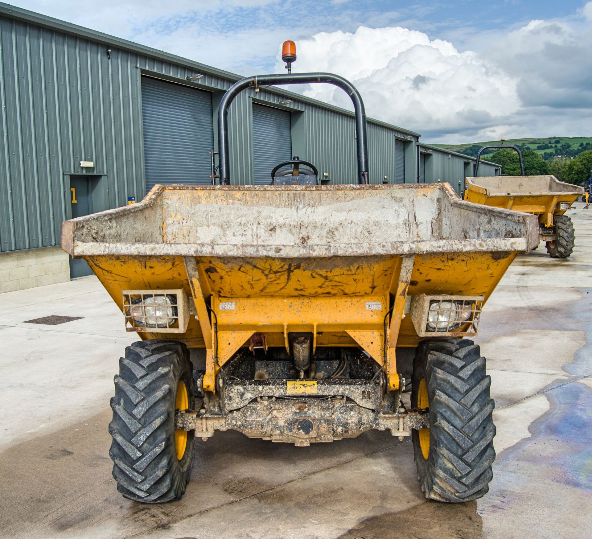
M 345 76 L 424 142 L 592 136 L 592 2 L 19 0 L 18 7 L 240 75 Z M 291 88 L 292 90 L 294 87 Z M 329 85 L 298 91 L 352 108 Z

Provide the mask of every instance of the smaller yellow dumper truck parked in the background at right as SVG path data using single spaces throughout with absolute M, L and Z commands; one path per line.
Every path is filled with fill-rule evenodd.
M 477 177 L 481 153 L 488 148 L 516 150 L 522 176 Z M 465 188 L 465 200 L 469 202 L 536 215 L 540 239 L 546 243 L 551 258 L 568 258 L 574 251 L 574 224 L 565 212 L 581 197 L 583 189 L 551 175 L 526 176 L 519 147 L 482 147 L 477 154 L 474 177 L 466 178 Z

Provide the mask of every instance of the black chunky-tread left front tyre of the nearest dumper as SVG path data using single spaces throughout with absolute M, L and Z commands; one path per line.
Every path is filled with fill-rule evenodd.
M 109 455 L 117 490 L 137 502 L 180 499 L 189 482 L 194 431 L 188 432 L 181 460 L 175 451 L 175 397 L 183 380 L 194 408 L 194 384 L 184 344 L 152 340 L 134 342 L 120 359 L 111 399 L 113 440 Z

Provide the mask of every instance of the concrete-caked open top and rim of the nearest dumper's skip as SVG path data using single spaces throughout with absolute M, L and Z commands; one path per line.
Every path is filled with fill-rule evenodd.
M 529 251 L 528 217 L 465 204 L 448 184 L 156 186 L 143 201 L 66 221 L 73 256 L 374 256 Z

